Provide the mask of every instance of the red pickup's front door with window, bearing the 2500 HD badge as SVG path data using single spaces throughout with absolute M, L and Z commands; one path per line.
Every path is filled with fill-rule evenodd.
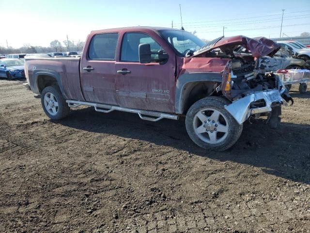
M 169 58 L 165 64 L 160 64 L 158 59 L 156 60 L 156 54 L 154 54 L 154 62 L 140 64 L 139 45 L 143 43 L 150 44 L 152 51 L 164 50 L 146 33 L 124 33 L 120 58 L 115 64 L 118 105 L 174 112 L 175 55 L 168 54 Z

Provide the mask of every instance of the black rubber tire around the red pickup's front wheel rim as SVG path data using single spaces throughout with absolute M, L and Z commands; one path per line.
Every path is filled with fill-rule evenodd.
M 187 131 L 189 137 L 192 139 L 192 141 L 196 145 L 198 145 L 199 147 L 201 147 L 203 149 L 207 149 L 207 150 L 223 151 L 223 150 L 227 150 L 227 149 L 231 148 L 235 144 L 235 142 L 239 139 L 239 137 L 242 133 L 243 124 L 239 125 L 236 122 L 236 120 L 233 118 L 233 116 L 224 108 L 224 105 L 226 105 L 226 104 L 230 104 L 230 101 L 228 101 L 224 98 L 221 98 L 221 97 L 212 96 L 212 97 L 206 97 L 202 100 L 198 100 L 188 109 L 187 114 L 186 114 L 186 120 L 185 120 L 186 131 Z M 217 110 L 222 115 L 220 117 L 225 116 L 225 118 L 227 120 L 227 123 L 228 123 L 227 135 L 219 143 L 212 144 L 212 143 L 205 142 L 195 132 L 195 129 L 194 129 L 195 121 L 194 120 L 195 120 L 196 114 L 199 113 L 200 111 L 204 110 L 204 109 Z M 208 116 L 206 116 L 206 117 L 208 117 Z M 219 117 L 219 120 L 220 120 L 220 117 Z M 222 118 L 222 119 L 224 119 L 224 118 Z M 226 120 L 224 119 L 224 121 L 226 121 Z M 204 124 L 204 122 L 202 122 L 202 125 L 203 124 Z M 212 133 L 212 131 L 210 133 Z M 217 133 L 219 133 L 219 132 L 214 132 L 214 133 L 215 133 L 216 138 L 217 138 Z

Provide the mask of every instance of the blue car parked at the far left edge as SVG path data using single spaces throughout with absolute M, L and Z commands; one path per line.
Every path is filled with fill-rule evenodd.
M 0 77 L 7 79 L 25 78 L 24 61 L 15 58 L 1 59 Z

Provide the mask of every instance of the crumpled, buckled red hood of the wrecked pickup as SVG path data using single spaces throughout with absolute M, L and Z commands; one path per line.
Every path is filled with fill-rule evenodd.
M 280 46 L 265 37 L 249 38 L 244 35 L 237 35 L 232 37 L 219 37 L 215 40 L 208 42 L 205 46 L 194 52 L 193 57 L 200 56 L 211 50 L 220 48 L 226 54 L 233 55 L 233 50 L 237 46 L 243 46 L 247 50 L 250 50 L 253 57 L 261 56 L 273 56 L 279 49 Z

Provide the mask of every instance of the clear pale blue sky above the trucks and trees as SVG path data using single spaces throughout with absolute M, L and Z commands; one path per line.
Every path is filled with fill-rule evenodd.
M 85 41 L 92 30 L 126 26 L 181 27 L 205 39 L 296 36 L 310 32 L 310 0 L 0 0 L 0 45 L 49 46 L 52 40 Z M 5 10 L 4 10 L 5 9 Z

